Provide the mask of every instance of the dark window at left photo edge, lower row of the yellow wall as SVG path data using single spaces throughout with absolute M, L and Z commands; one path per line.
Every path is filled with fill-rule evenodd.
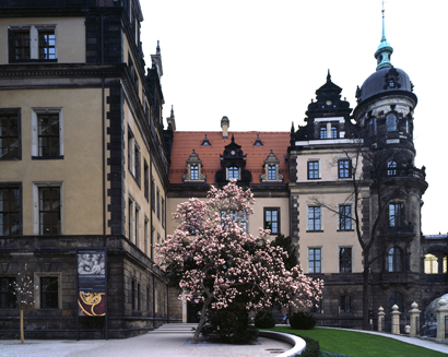
M 0 236 L 22 234 L 22 197 L 20 187 L 0 187 Z

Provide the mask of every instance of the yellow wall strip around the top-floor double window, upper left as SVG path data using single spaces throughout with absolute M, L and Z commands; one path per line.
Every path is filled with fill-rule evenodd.
M 13 17 L 0 19 L 0 64 L 9 62 L 8 26 L 16 25 L 56 25 L 58 63 L 85 62 L 85 17 Z

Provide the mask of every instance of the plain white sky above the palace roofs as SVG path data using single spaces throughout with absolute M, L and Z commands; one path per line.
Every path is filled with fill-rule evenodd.
M 352 108 L 376 70 L 381 0 L 140 2 L 146 66 L 160 40 L 164 118 L 173 105 L 177 130 L 220 131 L 227 116 L 231 131 L 290 131 L 304 124 L 328 70 Z M 415 166 L 429 183 L 422 229 L 447 234 L 448 1 L 388 0 L 385 9 L 391 62 L 418 97 Z

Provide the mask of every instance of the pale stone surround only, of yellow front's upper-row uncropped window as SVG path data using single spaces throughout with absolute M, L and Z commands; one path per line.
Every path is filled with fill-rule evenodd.
M 42 156 L 39 154 L 39 115 L 59 115 L 59 155 Z M 63 109 L 58 108 L 32 108 L 32 159 L 63 159 Z

